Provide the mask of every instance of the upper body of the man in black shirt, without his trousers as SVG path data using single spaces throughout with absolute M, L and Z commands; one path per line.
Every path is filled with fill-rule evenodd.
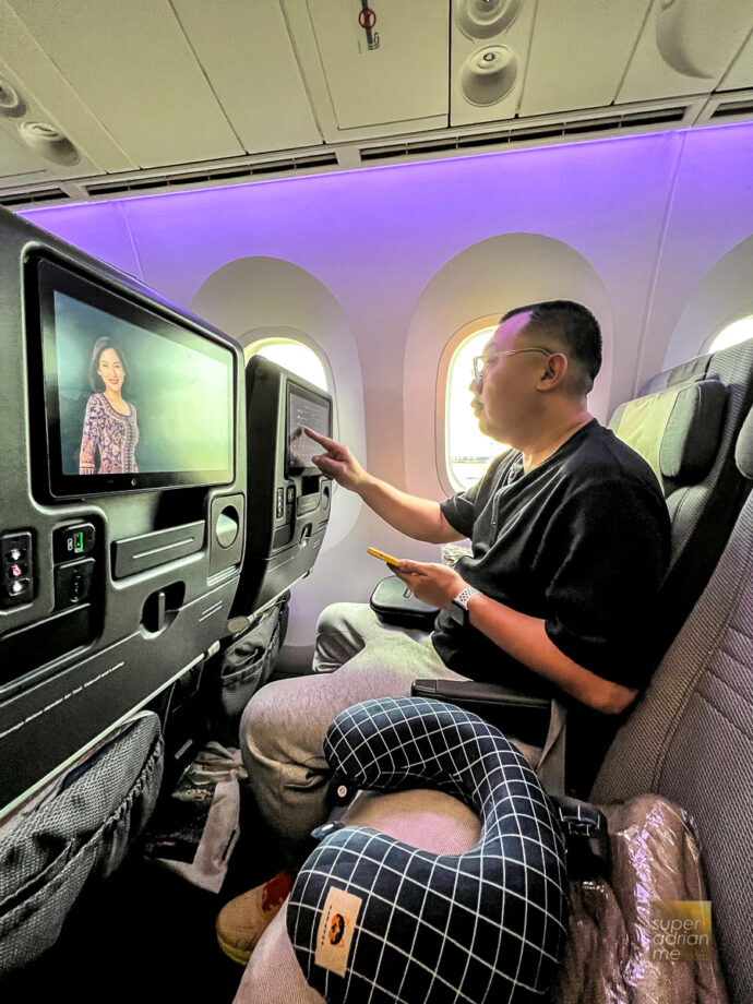
M 482 432 L 518 452 L 442 504 L 372 478 L 324 437 L 313 437 L 327 447 L 314 459 L 408 536 L 471 539 L 473 557 L 454 570 L 411 561 L 396 570 L 440 608 L 432 643 L 447 667 L 522 685 L 533 672 L 619 714 L 652 669 L 642 646 L 669 516 L 648 464 L 586 408 L 600 362 L 598 324 L 579 304 L 505 314 L 477 360 L 473 407 Z

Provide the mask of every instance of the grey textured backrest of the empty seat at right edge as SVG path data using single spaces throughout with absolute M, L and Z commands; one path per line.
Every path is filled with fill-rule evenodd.
M 753 344 L 750 345 L 753 352 Z M 753 480 L 753 413 L 737 464 Z M 753 495 L 591 791 L 655 792 L 692 815 L 722 967 L 736 1004 L 753 1000 Z

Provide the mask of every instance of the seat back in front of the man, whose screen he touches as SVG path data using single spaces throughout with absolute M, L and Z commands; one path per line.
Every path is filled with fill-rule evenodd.
M 302 427 L 332 434 L 330 394 L 262 356 L 246 360 L 246 553 L 218 669 L 214 730 L 238 742 L 243 708 L 267 682 L 285 641 L 290 587 L 311 574 L 330 519 L 332 481 Z

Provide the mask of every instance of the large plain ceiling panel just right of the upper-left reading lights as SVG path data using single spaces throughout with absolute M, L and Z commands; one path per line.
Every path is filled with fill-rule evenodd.
M 243 153 L 167 0 L 12 5 L 139 167 Z

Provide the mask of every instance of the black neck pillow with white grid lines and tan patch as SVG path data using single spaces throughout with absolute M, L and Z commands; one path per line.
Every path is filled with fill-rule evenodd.
M 322 840 L 287 910 L 309 984 L 330 1004 L 540 1002 L 564 951 L 569 903 L 562 832 L 525 757 L 476 715 L 422 697 L 347 708 L 324 750 L 359 788 L 456 796 L 482 830 L 464 854 L 370 827 Z

